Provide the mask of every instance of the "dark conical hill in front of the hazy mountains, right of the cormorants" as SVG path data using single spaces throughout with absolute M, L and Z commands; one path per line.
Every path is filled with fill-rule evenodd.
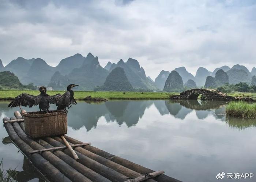
M 117 67 L 109 73 L 106 81 L 101 87 L 97 87 L 97 91 L 132 91 L 132 85 L 125 75 L 124 69 Z

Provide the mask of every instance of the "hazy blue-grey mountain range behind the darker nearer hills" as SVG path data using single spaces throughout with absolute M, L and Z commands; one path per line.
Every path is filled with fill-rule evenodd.
M 81 87 L 77 88 L 79 90 L 93 90 L 97 86 L 102 86 L 106 77 L 116 67 L 122 67 L 132 87 L 141 90 L 157 90 L 157 88 L 163 90 L 166 79 L 170 73 L 169 71 L 162 70 L 155 78 L 155 81 L 153 81 L 146 75 L 139 61 L 133 58 L 129 58 L 126 62 L 123 60 L 117 63 L 109 61 L 103 68 L 91 53 L 88 53 L 86 57 L 81 54 L 75 54 L 74 56 L 64 58 L 56 67 L 51 67 L 41 58 L 25 59 L 18 57 L 5 67 L 3 67 L 0 60 L 0 71 L 8 70 L 13 72 L 18 76 L 22 84 L 32 82 L 34 85 L 52 86 L 55 90 L 65 89 L 66 84 L 71 82 L 80 83 Z M 206 68 L 200 67 L 197 69 L 195 76 L 189 73 L 185 67 L 175 68 L 174 70 L 182 77 L 183 83 L 187 83 L 187 81 L 191 79 L 200 87 L 204 86 L 207 76 L 215 76 L 219 69 L 223 69 L 225 72 L 233 70 L 227 72 L 229 77 L 233 77 L 230 80 L 230 84 L 239 83 L 241 81 L 251 83 L 251 77 L 256 75 L 256 68 L 253 68 L 252 71 L 249 72 L 245 66 L 239 64 L 231 68 L 228 66 L 216 68 L 212 74 Z M 243 70 L 246 74 L 238 70 Z M 237 76 L 237 74 L 239 76 Z

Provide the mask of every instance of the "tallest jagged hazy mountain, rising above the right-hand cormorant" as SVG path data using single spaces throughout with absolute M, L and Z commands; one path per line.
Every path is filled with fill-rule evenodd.
M 89 55 L 89 57 L 92 56 Z M 79 85 L 77 88 L 79 90 L 93 90 L 95 87 L 103 85 L 109 74 L 108 70 L 99 64 L 97 56 L 91 61 L 86 57 L 86 61 L 88 62 L 84 62 L 82 67 L 73 69 L 67 75 L 70 83 Z

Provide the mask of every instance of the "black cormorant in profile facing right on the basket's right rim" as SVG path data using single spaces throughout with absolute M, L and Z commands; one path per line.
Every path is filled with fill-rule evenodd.
M 59 102 L 56 103 L 57 110 L 64 110 L 66 113 L 68 113 L 66 107 L 71 107 L 73 104 L 76 105 L 76 100 L 74 99 L 74 92 L 71 90 L 71 88 L 76 87 L 78 85 L 71 84 L 67 87 L 67 92 L 65 92 L 63 95 L 61 95 Z

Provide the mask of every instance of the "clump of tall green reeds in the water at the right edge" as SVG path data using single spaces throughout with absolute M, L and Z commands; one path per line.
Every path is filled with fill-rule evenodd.
M 226 106 L 226 115 L 231 117 L 256 118 L 256 104 L 231 101 Z

